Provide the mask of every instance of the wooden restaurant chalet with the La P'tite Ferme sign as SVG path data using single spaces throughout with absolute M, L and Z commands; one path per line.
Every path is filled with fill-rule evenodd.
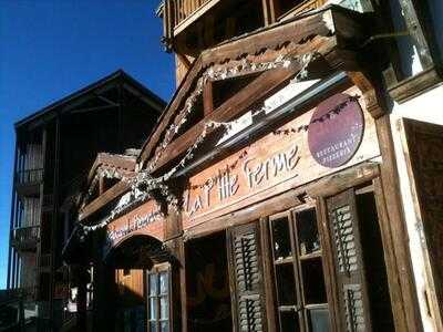
M 93 331 L 441 331 L 435 8 L 164 1 L 177 91 L 64 248 Z

